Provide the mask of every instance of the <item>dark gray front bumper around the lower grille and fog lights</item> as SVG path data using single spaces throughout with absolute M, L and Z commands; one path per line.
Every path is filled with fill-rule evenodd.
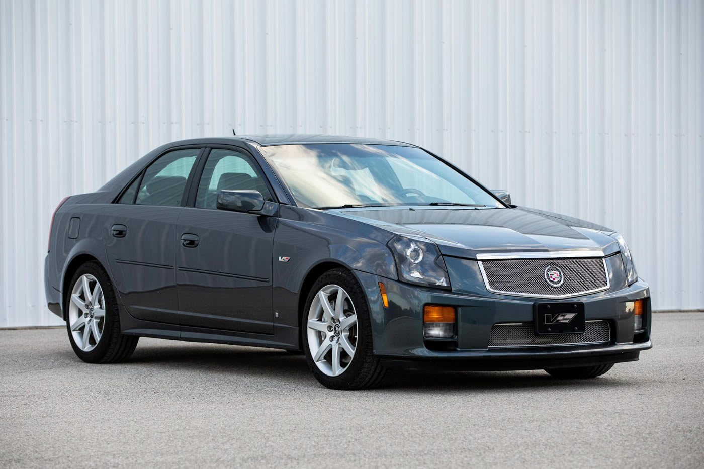
M 586 320 L 606 320 L 611 340 L 606 344 L 580 346 L 526 346 L 510 349 L 489 347 L 491 327 L 501 323 L 532 323 L 534 299 L 499 294 L 468 294 L 415 287 L 368 273 L 356 272 L 367 292 L 374 351 L 388 365 L 403 368 L 451 368 L 464 370 L 531 370 L 589 366 L 636 361 L 650 349 L 650 292 L 639 280 L 629 287 L 610 289 L 558 301 L 583 301 Z M 384 307 L 378 282 L 389 299 Z M 646 299 L 645 330 L 634 334 L 633 311 L 627 301 Z M 546 301 L 546 300 L 540 300 Z M 439 350 L 423 337 L 425 304 L 454 306 L 457 337 L 451 349 Z

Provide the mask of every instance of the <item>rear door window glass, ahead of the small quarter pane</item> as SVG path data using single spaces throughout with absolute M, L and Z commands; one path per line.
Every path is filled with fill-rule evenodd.
M 151 163 L 142 177 L 135 204 L 180 206 L 188 175 L 199 151 L 200 149 L 170 151 Z

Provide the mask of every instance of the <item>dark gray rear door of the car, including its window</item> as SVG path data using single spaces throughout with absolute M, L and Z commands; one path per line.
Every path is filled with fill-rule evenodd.
M 178 324 L 176 222 L 201 148 L 167 151 L 142 171 L 106 215 L 113 281 L 135 318 Z

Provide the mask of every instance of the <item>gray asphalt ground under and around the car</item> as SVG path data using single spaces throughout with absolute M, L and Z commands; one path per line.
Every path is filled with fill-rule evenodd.
M 704 313 L 586 381 L 396 373 L 325 389 L 302 356 L 140 339 L 89 365 L 63 329 L 0 331 L 0 467 L 704 467 Z

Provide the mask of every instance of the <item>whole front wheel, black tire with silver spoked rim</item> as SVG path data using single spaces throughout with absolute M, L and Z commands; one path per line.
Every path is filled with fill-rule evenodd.
M 328 301 L 329 313 L 322 303 L 324 299 Z M 337 308 L 338 304 L 342 307 Z M 378 386 L 386 375 L 386 369 L 373 354 L 367 297 L 346 269 L 329 270 L 310 288 L 301 315 L 301 336 L 308 368 L 330 389 L 368 389 Z M 322 349 L 325 353 L 321 355 Z M 349 350 L 353 351 L 351 356 Z

